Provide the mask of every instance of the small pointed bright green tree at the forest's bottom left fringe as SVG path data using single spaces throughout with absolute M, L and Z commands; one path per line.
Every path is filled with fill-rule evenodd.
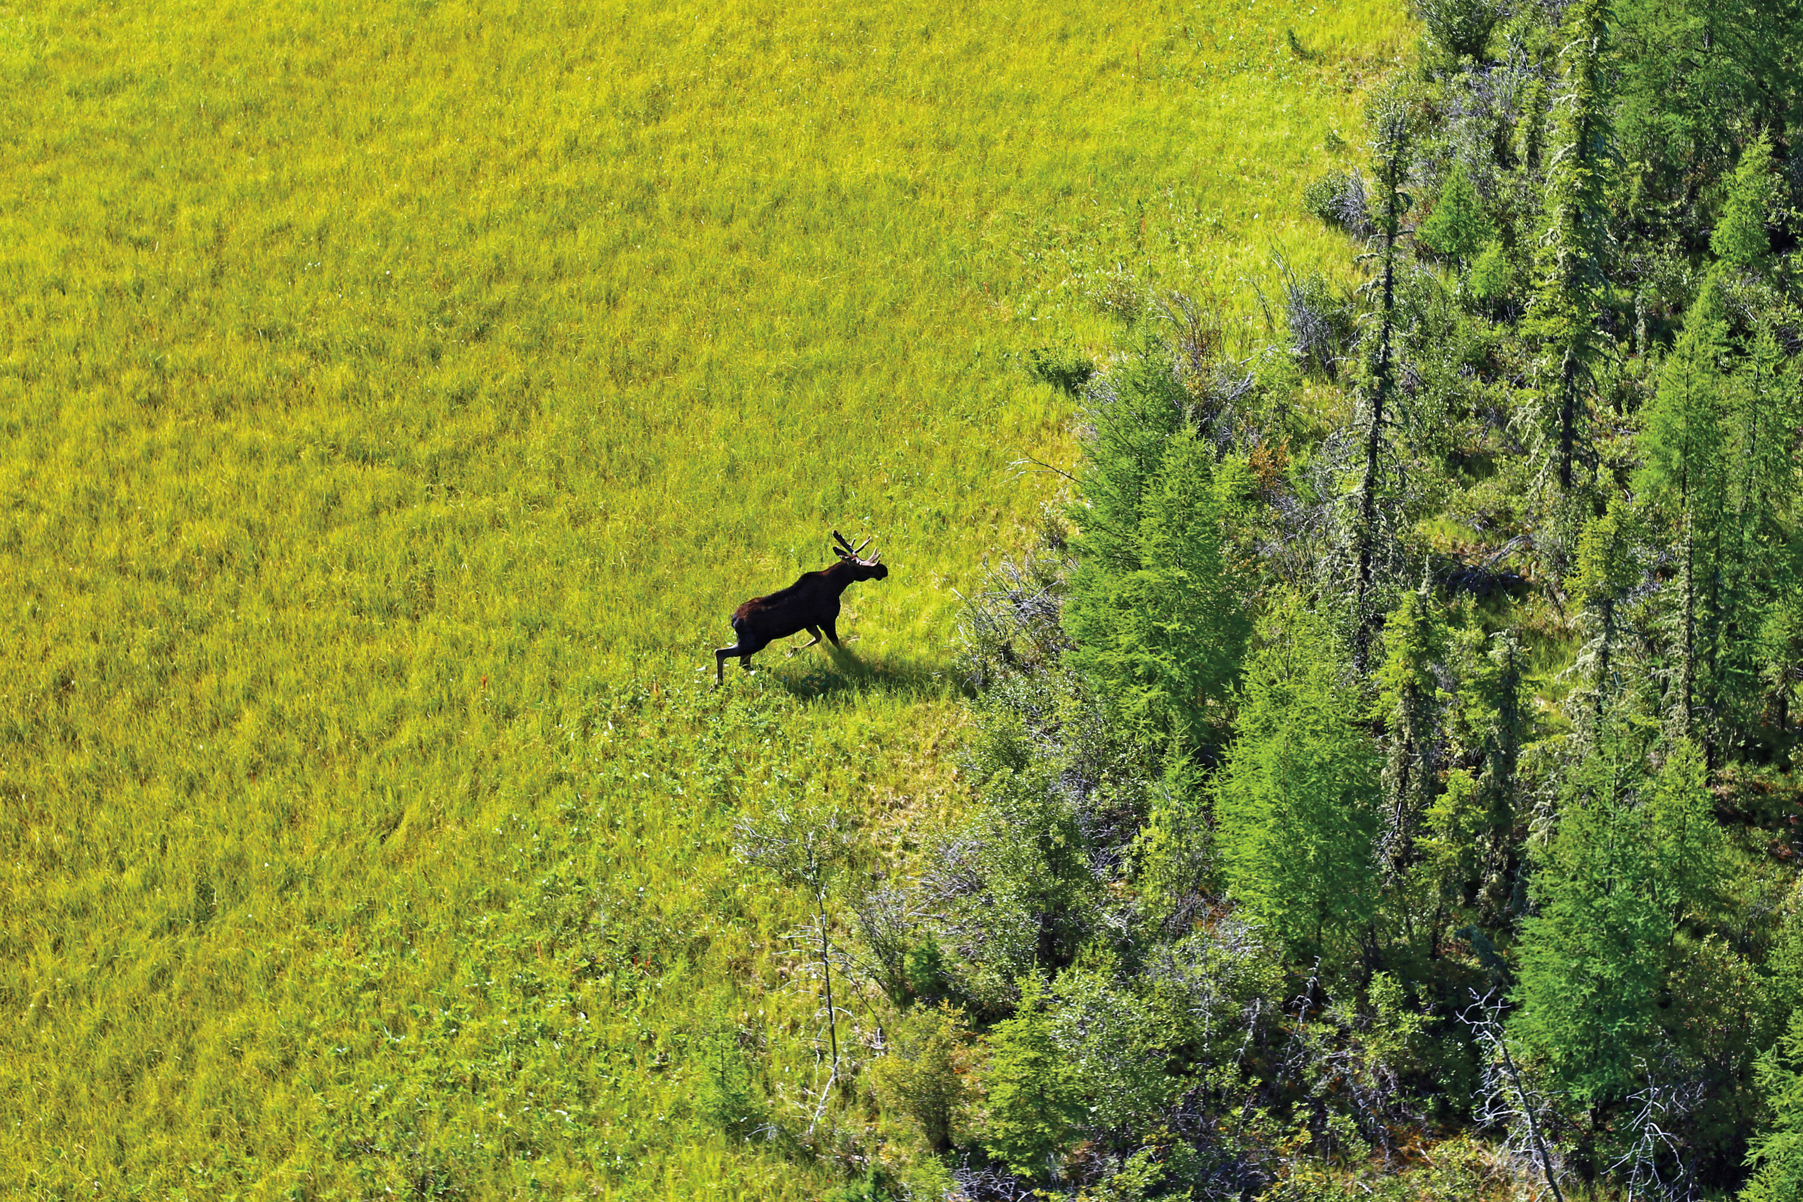
M 1046 1177 L 1085 1117 L 1082 1078 L 1051 1038 L 1044 988 L 1028 979 L 1013 1018 L 990 1029 L 983 1146 L 1024 1177 Z

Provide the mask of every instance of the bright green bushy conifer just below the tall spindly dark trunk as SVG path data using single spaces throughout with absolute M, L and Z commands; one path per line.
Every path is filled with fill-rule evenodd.
M 1262 631 L 1215 793 L 1228 888 L 1291 957 L 1343 955 L 1374 903 L 1379 759 L 1332 625 L 1289 602 Z

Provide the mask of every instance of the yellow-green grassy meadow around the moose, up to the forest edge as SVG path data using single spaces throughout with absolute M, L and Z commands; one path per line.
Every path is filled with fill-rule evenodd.
M 1350 272 L 1296 195 L 1406 40 L 0 5 L 0 1193 L 819 1197 L 705 1114 L 819 1081 L 734 818 L 956 809 L 956 591 L 1071 456 L 1022 364 Z M 835 526 L 856 642 L 712 690 Z

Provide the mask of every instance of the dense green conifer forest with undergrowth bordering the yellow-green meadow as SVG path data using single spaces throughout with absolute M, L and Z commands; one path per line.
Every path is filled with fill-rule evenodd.
M 965 613 L 966 1197 L 1803 1197 L 1803 11 L 1417 14 L 1358 283 L 1161 292 Z

